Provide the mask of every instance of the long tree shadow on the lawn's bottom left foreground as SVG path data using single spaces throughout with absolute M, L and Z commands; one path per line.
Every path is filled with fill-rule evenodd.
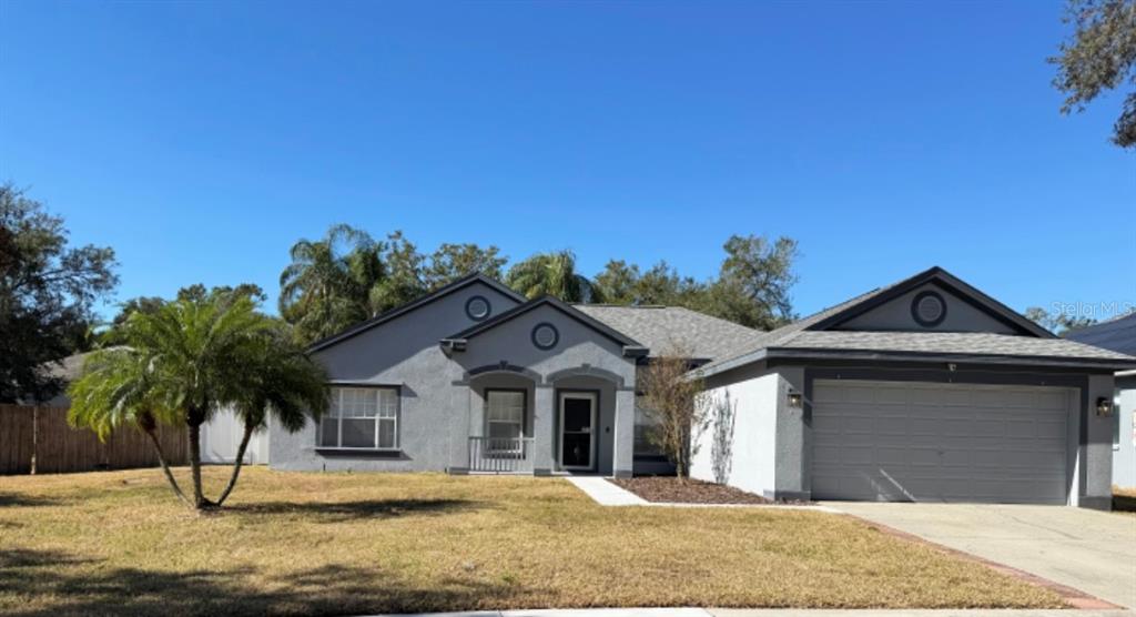
M 521 600 L 516 584 L 446 577 L 426 585 L 373 567 L 326 565 L 184 573 L 105 568 L 60 551 L 0 550 L 0 612 L 55 615 L 346 615 L 477 608 Z

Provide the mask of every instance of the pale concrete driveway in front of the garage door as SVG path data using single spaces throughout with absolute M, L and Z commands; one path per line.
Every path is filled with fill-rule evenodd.
M 1136 516 L 1062 506 L 827 505 L 1136 608 Z

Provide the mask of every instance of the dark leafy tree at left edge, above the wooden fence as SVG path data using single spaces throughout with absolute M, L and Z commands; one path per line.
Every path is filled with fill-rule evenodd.
M 92 305 L 118 284 L 112 249 L 67 235 L 62 218 L 0 185 L 0 402 L 58 393 L 44 367 L 87 340 Z

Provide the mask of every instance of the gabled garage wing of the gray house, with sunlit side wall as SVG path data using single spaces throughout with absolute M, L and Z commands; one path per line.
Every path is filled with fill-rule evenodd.
M 1109 508 L 1099 407 L 1134 368 L 936 267 L 700 367 L 692 473 L 770 498 Z

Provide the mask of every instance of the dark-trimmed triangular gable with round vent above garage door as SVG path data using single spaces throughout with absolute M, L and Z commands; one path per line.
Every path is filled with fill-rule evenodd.
M 918 314 L 917 302 L 926 297 L 942 307 L 936 319 L 920 320 L 925 316 Z M 937 266 L 845 302 L 799 330 L 988 332 L 1054 337 L 1050 331 Z

